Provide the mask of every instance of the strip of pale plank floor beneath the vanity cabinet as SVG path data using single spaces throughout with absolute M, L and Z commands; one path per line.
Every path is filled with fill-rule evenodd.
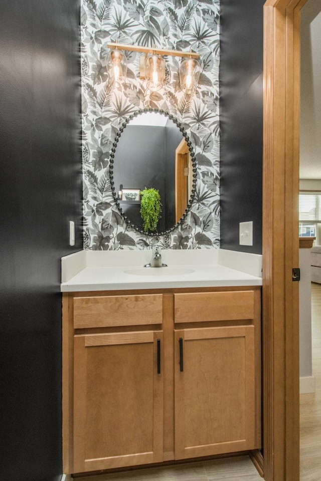
M 248 456 L 76 478 L 78 481 L 262 481 Z

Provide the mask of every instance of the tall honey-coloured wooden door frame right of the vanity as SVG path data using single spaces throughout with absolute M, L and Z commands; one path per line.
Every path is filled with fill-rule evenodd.
M 267 481 L 299 479 L 300 10 L 264 4 L 263 446 Z

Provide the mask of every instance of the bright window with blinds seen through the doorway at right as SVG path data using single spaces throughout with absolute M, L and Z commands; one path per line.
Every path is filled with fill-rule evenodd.
M 300 191 L 299 236 L 316 237 L 313 245 L 321 244 L 321 192 Z

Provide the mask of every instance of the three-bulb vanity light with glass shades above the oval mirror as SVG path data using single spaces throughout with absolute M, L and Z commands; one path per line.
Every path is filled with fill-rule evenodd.
M 140 47 L 139 45 L 125 45 L 118 43 L 107 44 L 109 50 L 107 56 L 107 72 L 114 80 L 117 80 L 119 70 L 122 64 L 125 65 L 125 55 L 119 51 L 140 52 L 145 54 L 140 57 L 140 79 L 147 79 L 147 89 L 156 91 L 162 88 L 165 81 L 165 59 L 163 56 L 183 57 L 180 68 L 181 87 L 187 93 L 192 93 L 198 84 L 200 76 L 200 63 L 197 59 L 200 54 L 196 52 L 182 52 L 180 50 L 153 49 L 149 47 Z M 109 60 L 110 59 L 110 60 Z M 120 67 L 119 67 L 120 66 Z M 112 70 L 115 69 L 116 70 Z M 116 72 L 116 74 L 115 74 Z M 121 76 L 124 77 L 124 70 L 121 70 Z M 116 78 L 116 75 L 118 77 Z

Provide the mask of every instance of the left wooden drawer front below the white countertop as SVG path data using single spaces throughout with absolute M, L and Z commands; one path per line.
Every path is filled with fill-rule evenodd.
M 161 324 L 163 295 L 74 298 L 74 328 Z

